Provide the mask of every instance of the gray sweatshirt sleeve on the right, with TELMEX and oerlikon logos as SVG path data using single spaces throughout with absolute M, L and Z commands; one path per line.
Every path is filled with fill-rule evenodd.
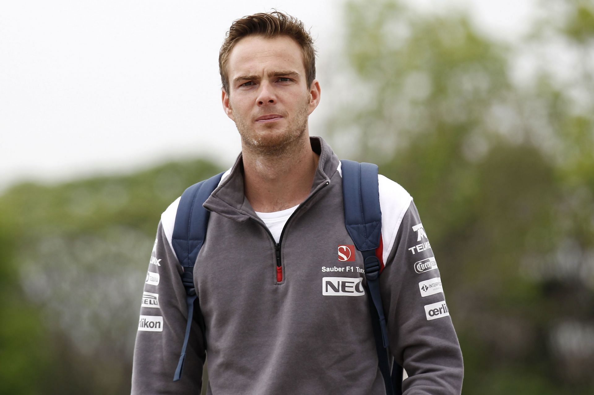
M 390 352 L 405 368 L 403 395 L 462 392 L 462 351 L 437 262 L 415 204 L 396 233 L 380 276 Z

